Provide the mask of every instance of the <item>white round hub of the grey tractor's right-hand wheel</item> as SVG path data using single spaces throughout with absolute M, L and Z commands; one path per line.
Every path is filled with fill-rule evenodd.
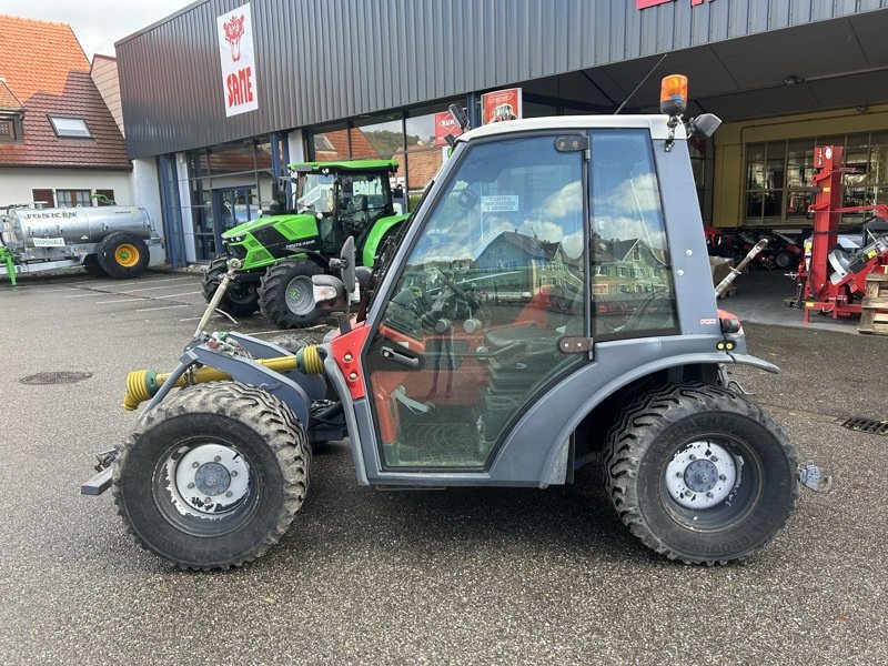
M 740 464 L 743 461 L 715 442 L 693 442 L 666 466 L 666 492 L 686 508 L 709 508 L 730 496 Z

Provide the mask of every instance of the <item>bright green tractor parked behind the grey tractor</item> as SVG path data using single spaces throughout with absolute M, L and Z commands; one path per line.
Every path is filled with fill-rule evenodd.
M 295 184 L 293 210 L 246 222 L 222 234 L 225 255 L 203 278 L 209 303 L 231 258 L 242 265 L 219 306 L 234 316 L 260 310 L 282 329 L 314 325 L 312 276 L 330 273 L 330 259 L 345 239 L 355 239 L 359 265 L 372 266 L 383 242 L 406 215 L 396 215 L 390 178 L 397 162 L 354 160 L 289 165 Z

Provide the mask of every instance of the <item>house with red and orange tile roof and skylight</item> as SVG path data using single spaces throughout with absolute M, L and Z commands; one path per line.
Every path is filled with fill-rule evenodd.
M 132 170 L 71 28 L 0 16 L 0 206 L 138 203 Z

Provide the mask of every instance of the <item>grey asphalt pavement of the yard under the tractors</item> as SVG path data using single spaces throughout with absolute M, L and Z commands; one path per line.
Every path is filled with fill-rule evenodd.
M 723 306 L 758 307 L 753 286 Z M 384 493 L 336 443 L 281 544 L 198 574 L 141 551 L 110 493 L 79 486 L 135 424 L 127 373 L 169 371 L 202 312 L 195 274 L 0 282 L 0 664 L 888 663 L 888 437 L 841 425 L 888 420 L 888 337 L 748 317 L 750 352 L 784 372 L 734 376 L 834 490 L 803 491 L 743 563 L 655 555 L 591 476 Z M 213 327 L 278 334 L 258 316 Z

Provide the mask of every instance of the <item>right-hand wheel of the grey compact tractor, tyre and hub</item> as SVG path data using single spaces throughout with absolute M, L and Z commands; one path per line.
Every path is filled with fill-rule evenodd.
M 774 538 L 796 503 L 796 453 L 758 406 L 705 384 L 640 396 L 607 436 L 605 484 L 646 546 L 726 564 Z

